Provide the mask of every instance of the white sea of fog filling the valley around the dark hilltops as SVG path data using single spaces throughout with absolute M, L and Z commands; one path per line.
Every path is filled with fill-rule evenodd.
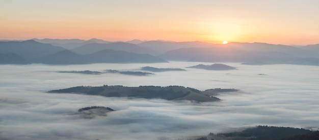
M 197 64 L 212 63 L 1 65 L 0 139 L 177 139 L 255 125 L 314 130 L 319 127 L 318 66 L 223 63 L 237 70 L 185 68 Z M 104 69 L 140 71 L 142 66 L 187 71 L 151 76 L 57 73 L 102 72 Z M 104 84 L 179 85 L 199 90 L 235 88 L 240 91 L 221 93 L 217 97 L 222 101 L 204 103 L 46 93 L 52 89 Z M 92 119 L 77 113 L 78 109 L 91 106 L 116 111 Z

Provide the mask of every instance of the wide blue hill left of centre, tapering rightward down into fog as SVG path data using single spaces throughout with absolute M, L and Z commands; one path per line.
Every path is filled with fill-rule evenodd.
M 91 63 L 159 63 L 167 62 L 161 58 L 149 55 L 130 53 L 126 51 L 101 50 L 96 53 L 85 55 Z

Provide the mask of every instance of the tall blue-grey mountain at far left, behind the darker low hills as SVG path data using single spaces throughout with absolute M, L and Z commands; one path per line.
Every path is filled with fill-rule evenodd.
M 27 60 L 34 59 L 65 50 L 62 47 L 53 46 L 50 44 L 39 43 L 33 40 L 22 42 L 0 42 L 1 53 L 15 53 Z

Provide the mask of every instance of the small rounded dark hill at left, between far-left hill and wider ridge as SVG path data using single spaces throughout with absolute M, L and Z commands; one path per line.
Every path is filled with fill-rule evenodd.
M 32 62 L 44 64 L 87 64 L 89 61 L 82 55 L 69 50 L 60 51 L 34 59 Z

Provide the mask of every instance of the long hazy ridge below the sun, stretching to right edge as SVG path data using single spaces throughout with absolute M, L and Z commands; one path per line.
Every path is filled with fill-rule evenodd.
M 241 44 L 242 45 L 242 44 Z M 275 45 L 276 46 L 276 45 Z M 291 49 L 291 47 L 288 47 Z M 293 47 L 292 50 L 279 52 L 272 51 L 274 49 L 263 49 L 259 52 L 251 51 L 254 49 L 241 50 L 240 47 L 235 46 L 223 46 L 223 47 L 211 47 L 211 48 L 182 48 L 172 51 L 168 51 L 159 57 L 166 60 L 177 60 L 177 61 L 201 61 L 201 62 L 249 62 L 268 64 L 305 64 L 305 65 L 319 65 L 319 58 L 311 57 L 314 53 L 309 53 L 308 57 L 297 57 L 289 52 L 295 52 L 296 49 Z M 256 49 L 255 49 L 256 50 Z M 283 49 L 285 50 L 285 49 Z M 282 48 L 281 50 L 282 51 Z M 308 52 L 301 51 L 300 56 L 307 55 Z

